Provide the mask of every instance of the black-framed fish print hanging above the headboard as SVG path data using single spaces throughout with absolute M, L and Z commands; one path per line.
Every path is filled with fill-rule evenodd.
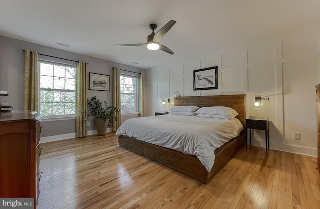
M 193 71 L 193 91 L 218 89 L 218 66 Z

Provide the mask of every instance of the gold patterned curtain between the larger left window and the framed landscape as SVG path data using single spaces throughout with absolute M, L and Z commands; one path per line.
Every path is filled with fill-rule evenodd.
M 87 88 L 87 63 L 79 61 L 76 65 L 75 75 L 75 136 L 87 136 L 86 116 L 86 88 Z

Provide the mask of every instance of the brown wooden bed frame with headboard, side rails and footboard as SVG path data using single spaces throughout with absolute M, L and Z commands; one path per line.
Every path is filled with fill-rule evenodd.
M 119 136 L 119 146 L 158 162 L 179 173 L 194 178 L 202 183 L 207 183 L 245 144 L 245 95 L 217 95 L 217 96 L 188 96 L 174 97 L 174 106 L 196 105 L 198 107 L 226 106 L 239 113 L 236 116 L 242 123 L 244 130 L 214 151 L 215 160 L 213 167 L 208 172 L 194 155 L 184 154 L 172 149 L 150 144 L 138 139 Z

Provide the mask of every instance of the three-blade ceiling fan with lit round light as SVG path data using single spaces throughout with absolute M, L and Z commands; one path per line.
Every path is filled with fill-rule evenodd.
M 149 50 L 162 50 L 163 52 L 169 53 L 170 55 L 173 55 L 174 52 L 172 52 L 169 48 L 159 44 L 159 41 L 164 37 L 164 35 L 171 29 L 171 27 L 175 24 L 175 21 L 169 21 L 167 24 L 165 24 L 156 34 L 154 33 L 154 30 L 156 29 L 155 24 L 150 24 L 149 28 L 152 30 L 152 33 L 148 35 L 147 42 L 144 44 L 115 44 L 114 46 L 142 46 L 146 45 L 146 47 Z

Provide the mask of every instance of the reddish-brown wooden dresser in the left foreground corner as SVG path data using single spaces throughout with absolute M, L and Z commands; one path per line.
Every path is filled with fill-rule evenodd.
M 40 116 L 32 111 L 0 115 L 0 197 L 39 196 Z

